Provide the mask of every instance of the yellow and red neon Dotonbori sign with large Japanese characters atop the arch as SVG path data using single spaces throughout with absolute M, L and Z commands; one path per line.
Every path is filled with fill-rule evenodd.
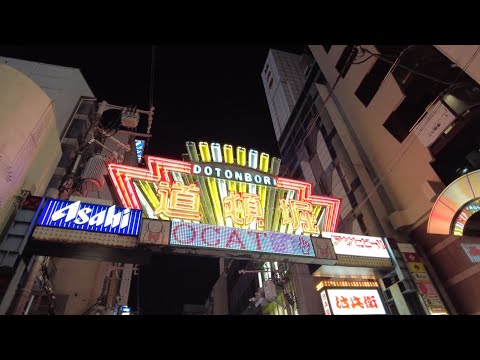
M 145 156 L 146 169 L 107 164 L 123 206 L 149 219 L 292 235 L 335 231 L 341 200 L 279 177 L 279 159 L 243 147 L 234 154 L 217 143 L 200 142 L 198 149 L 187 143 L 190 162 Z

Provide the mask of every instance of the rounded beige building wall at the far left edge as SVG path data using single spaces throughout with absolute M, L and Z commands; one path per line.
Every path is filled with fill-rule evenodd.
M 41 196 L 61 156 L 55 114 L 45 92 L 16 69 L 0 64 L 0 230 L 15 195 Z

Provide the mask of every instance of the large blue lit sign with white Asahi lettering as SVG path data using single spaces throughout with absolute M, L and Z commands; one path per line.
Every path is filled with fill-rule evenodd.
M 48 199 L 37 225 L 137 236 L 141 218 L 140 210 Z

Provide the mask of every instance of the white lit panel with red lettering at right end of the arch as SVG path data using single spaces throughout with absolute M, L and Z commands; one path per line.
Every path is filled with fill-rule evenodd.
M 338 255 L 390 258 L 385 243 L 379 237 L 329 232 L 322 232 L 322 236 L 332 239 Z

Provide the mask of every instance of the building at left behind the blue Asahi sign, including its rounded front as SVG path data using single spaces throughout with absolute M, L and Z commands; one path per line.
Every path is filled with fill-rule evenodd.
M 132 264 L 101 261 L 101 256 L 89 260 L 68 254 L 22 255 L 28 234 L 21 234 L 20 245 L 12 246 L 10 240 L 15 235 L 12 229 L 28 227 L 28 220 L 26 225 L 19 223 L 27 195 L 113 204 L 103 175 L 98 179 L 88 175 L 96 161 L 92 158 L 110 154 L 108 148 L 136 164 L 135 146 L 126 154 L 112 138 L 97 145 L 86 143 L 91 125 L 98 120 L 98 104 L 79 69 L 0 57 L 0 76 L 4 129 L 0 156 L 5 173 L 0 204 L 0 313 L 113 313 L 116 305 L 127 305 Z M 128 134 L 115 138 L 133 144 Z

